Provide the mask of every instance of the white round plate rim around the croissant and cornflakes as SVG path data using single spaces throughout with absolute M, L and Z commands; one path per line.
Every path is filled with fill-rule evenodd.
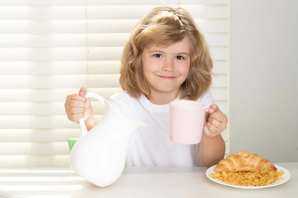
M 209 176 L 211 173 L 214 173 L 214 170 L 215 170 L 215 167 L 216 166 L 217 165 L 214 165 L 214 166 L 208 168 L 208 170 L 206 171 L 206 176 L 210 180 L 212 180 L 212 181 L 214 181 L 214 182 L 216 182 L 218 184 L 222 184 L 224 186 L 233 187 L 233 188 L 236 188 L 236 189 L 246 189 L 246 190 L 264 189 L 264 188 L 269 188 L 269 187 L 274 187 L 274 186 L 278 186 L 278 185 L 284 184 L 287 181 L 289 181 L 290 178 L 291 178 L 291 174 L 290 174 L 290 172 L 287 169 L 275 165 L 275 167 L 278 169 L 277 171 L 283 170 L 285 172 L 285 174 L 281 176 L 281 177 L 284 178 L 283 180 L 277 180 L 276 182 L 274 182 L 274 183 L 272 183 L 270 185 L 267 185 L 267 186 L 238 186 L 238 185 L 231 185 L 231 184 L 226 183 L 226 182 L 224 182 L 222 180 L 214 179 L 214 178 L 212 178 L 212 177 Z

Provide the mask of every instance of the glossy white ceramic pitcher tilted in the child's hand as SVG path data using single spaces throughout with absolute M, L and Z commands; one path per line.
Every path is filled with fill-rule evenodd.
M 122 174 L 132 134 L 147 125 L 125 118 L 97 94 L 87 93 L 85 97 L 98 99 L 105 112 L 102 120 L 89 132 L 83 118 L 79 119 L 82 134 L 71 149 L 71 168 L 94 185 L 105 187 L 114 183 Z

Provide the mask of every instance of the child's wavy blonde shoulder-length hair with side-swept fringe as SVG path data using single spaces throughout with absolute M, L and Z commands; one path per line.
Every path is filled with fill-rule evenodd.
M 180 86 L 180 99 L 197 100 L 212 83 L 213 62 L 203 33 L 188 11 L 183 8 L 158 6 L 141 19 L 127 41 L 121 56 L 120 85 L 134 98 L 143 93 L 150 97 L 149 83 L 144 77 L 142 53 L 156 44 L 169 46 L 190 40 L 190 70 Z

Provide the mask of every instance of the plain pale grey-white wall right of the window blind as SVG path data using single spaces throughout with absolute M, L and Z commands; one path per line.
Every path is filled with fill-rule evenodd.
M 230 0 L 230 152 L 298 161 L 298 0 Z

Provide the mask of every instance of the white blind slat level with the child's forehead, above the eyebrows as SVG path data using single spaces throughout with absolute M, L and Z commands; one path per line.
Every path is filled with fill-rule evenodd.
M 67 48 L 67 47 L 122 47 L 130 33 L 103 34 L 0 34 L 0 48 Z M 207 33 L 209 46 L 228 46 L 228 34 Z

